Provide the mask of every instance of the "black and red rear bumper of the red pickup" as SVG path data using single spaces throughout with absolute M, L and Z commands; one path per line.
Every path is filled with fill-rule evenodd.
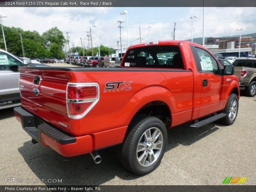
M 22 107 L 14 108 L 14 114 L 32 139 L 43 146 L 51 147 L 62 156 L 77 156 L 92 152 L 90 135 L 72 137 Z

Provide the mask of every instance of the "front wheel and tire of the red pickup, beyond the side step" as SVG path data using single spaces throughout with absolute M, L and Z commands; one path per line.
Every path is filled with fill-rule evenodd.
M 239 105 L 237 95 L 232 93 L 231 95 L 229 95 L 226 107 L 223 111 L 227 114 L 227 116 L 220 119 L 220 122 L 225 125 L 232 125 L 236 120 L 238 106 Z

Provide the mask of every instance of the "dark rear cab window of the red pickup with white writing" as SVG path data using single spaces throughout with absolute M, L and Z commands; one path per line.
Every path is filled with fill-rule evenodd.
M 180 68 L 183 61 L 178 46 L 145 46 L 128 50 L 124 67 Z

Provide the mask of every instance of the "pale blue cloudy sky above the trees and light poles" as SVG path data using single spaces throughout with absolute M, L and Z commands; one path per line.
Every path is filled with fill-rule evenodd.
M 70 46 L 81 46 L 85 39 L 88 46 L 87 33 L 92 29 L 93 47 L 99 43 L 117 49 L 120 41 L 118 20 L 122 23 L 122 47 L 128 47 L 126 15 L 120 12 L 128 11 L 129 41 L 131 44 L 140 43 L 139 26 L 142 42 L 148 41 L 148 26 L 150 26 L 150 41 L 173 39 L 172 31 L 176 22 L 175 39 L 191 38 L 193 19 L 193 37 L 203 36 L 202 7 L 2 7 L 0 14 L 3 25 L 19 27 L 24 30 L 36 30 L 40 34 L 52 27 L 58 27 L 66 36 L 68 32 Z M 256 7 L 205 7 L 204 15 L 205 37 L 239 35 L 237 28 L 245 28 L 241 34 L 256 32 Z M 120 46 L 120 43 L 119 43 Z M 120 47 L 119 47 L 120 48 Z

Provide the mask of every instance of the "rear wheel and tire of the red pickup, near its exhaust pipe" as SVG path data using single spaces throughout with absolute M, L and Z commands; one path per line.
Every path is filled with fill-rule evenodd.
M 136 175 L 154 171 L 161 163 L 167 145 L 164 123 L 156 117 L 145 117 L 138 116 L 132 121 L 121 146 L 121 164 Z M 149 133 L 150 138 L 146 139 Z

